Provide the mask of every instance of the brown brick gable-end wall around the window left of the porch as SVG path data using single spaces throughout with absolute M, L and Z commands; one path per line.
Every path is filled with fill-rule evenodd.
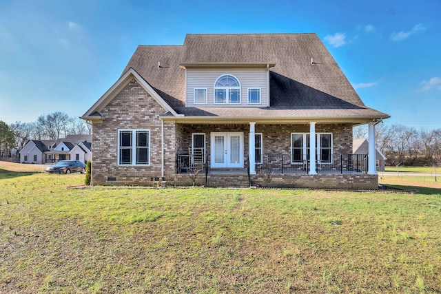
M 94 123 L 92 142 L 94 148 L 92 185 L 150 185 L 152 176 L 161 176 L 161 119 L 165 114 L 152 96 L 134 79 L 101 110 L 103 123 Z M 150 166 L 119 166 L 117 162 L 118 129 L 150 129 Z M 175 143 L 174 125 L 165 124 L 167 131 L 168 162 L 176 154 L 171 145 Z M 174 161 L 173 161 L 174 162 Z M 172 169 L 167 164 L 167 169 Z M 108 182 L 116 178 L 116 182 Z

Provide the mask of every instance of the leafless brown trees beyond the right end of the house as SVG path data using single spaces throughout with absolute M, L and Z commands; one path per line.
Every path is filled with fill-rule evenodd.
M 367 126 L 353 128 L 353 138 L 367 138 Z M 376 147 L 389 166 L 441 165 L 441 129 L 417 130 L 404 125 L 376 125 Z

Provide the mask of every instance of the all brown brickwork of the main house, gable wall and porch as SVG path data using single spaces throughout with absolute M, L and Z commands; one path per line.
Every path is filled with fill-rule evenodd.
M 204 133 L 207 154 L 210 152 L 210 133 L 243 132 L 244 164 L 248 156 L 249 125 L 176 125 L 164 123 L 164 154 L 161 153 L 161 119 L 166 110 L 134 79 L 101 110 L 103 123 L 93 125 L 94 158 L 92 162 L 92 185 L 152 185 L 152 177 L 161 176 L 162 156 L 164 176 L 170 178 L 176 171 L 176 155 L 188 151 L 192 145 L 192 133 Z M 118 129 L 150 129 L 150 166 L 119 166 L 117 162 Z M 256 133 L 263 133 L 264 154 L 290 154 L 291 133 L 309 132 L 309 125 L 259 125 Z M 335 154 L 350 154 L 352 151 L 352 128 L 347 125 L 316 125 L 316 132 L 331 132 Z M 208 165 L 209 156 L 207 156 Z M 318 177 L 318 178 L 314 178 Z M 273 185 L 289 187 L 339 187 L 349 183 L 359 187 L 373 187 L 378 182 L 367 176 L 320 175 L 274 177 Z M 109 181 L 109 178 L 112 181 Z M 202 180 L 202 176 L 198 180 Z M 113 179 L 115 181 L 113 181 Z M 185 179 L 185 180 L 184 180 Z M 188 176 L 181 177 L 188 182 Z M 258 184 L 261 180 L 254 176 Z M 294 181 L 294 182 L 293 182 Z M 351 182 L 355 184 L 350 184 Z M 262 183 L 263 184 L 263 183 Z M 359 185 L 360 184 L 360 185 Z M 365 189 L 365 188 L 363 188 Z M 366 188 L 367 189 L 367 188 Z

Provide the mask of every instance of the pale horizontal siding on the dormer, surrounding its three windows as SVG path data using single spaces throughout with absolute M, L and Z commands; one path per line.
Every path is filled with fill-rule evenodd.
M 240 104 L 214 103 L 214 83 L 225 74 L 236 77 L 240 83 Z M 186 105 L 188 107 L 263 107 L 269 103 L 268 70 L 261 68 L 194 69 L 187 68 Z M 194 103 L 194 89 L 207 90 L 207 103 Z M 248 89 L 260 89 L 260 103 L 248 103 Z

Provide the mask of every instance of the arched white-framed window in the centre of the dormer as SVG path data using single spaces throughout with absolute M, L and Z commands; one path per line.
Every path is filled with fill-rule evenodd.
M 220 76 L 214 83 L 214 103 L 240 103 L 240 83 L 230 74 Z

